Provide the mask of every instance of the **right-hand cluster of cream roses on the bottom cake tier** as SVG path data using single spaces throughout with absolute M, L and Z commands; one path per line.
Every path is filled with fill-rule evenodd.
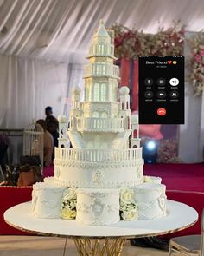
M 123 188 L 120 191 L 120 219 L 138 220 L 138 207 L 131 188 Z

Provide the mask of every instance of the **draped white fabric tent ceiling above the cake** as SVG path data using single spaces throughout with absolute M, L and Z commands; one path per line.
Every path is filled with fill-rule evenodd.
M 0 0 L 0 53 L 83 62 L 93 30 L 103 18 L 155 33 L 181 20 L 204 27 L 203 0 Z

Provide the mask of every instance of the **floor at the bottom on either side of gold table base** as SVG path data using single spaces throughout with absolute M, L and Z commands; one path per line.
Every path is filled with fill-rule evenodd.
M 28 237 L 28 236 L 0 236 L 1 256 L 56 256 L 63 255 L 65 239 Z M 75 256 L 73 240 L 67 241 L 66 256 Z M 169 253 L 155 250 L 143 249 L 131 246 L 127 240 L 122 255 L 125 256 L 168 256 Z

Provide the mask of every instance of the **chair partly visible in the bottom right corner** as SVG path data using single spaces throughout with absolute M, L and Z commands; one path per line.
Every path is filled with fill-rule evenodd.
M 204 256 L 204 209 L 201 216 L 201 235 L 187 235 L 170 240 L 169 256 Z

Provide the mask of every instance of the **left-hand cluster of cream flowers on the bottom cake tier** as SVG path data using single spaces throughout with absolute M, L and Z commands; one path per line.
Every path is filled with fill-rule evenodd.
M 61 200 L 61 218 L 73 220 L 76 218 L 77 194 L 74 187 L 68 187 Z

